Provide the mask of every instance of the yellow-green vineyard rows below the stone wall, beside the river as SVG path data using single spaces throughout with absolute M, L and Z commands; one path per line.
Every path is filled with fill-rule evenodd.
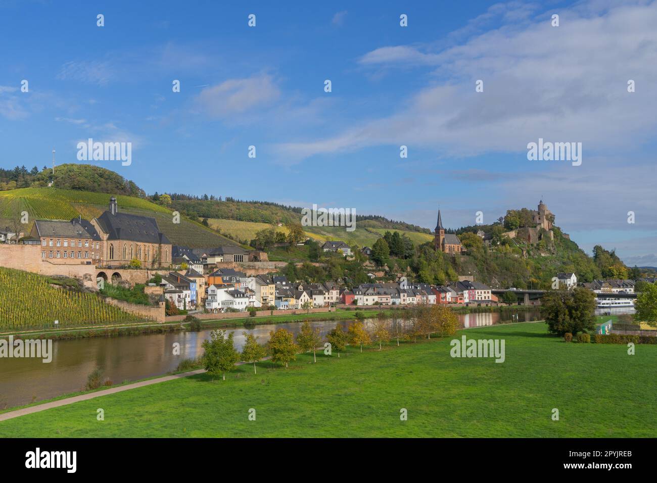
M 49 285 L 45 277 L 0 267 L 0 331 L 140 321 L 91 293 Z

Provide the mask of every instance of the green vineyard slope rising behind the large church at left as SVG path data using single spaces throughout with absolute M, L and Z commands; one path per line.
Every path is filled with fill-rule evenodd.
M 23 211 L 28 212 L 28 232 L 35 219 L 72 219 L 82 216 L 91 219 L 107 209 L 110 194 L 57 188 L 22 188 L 0 191 L 0 226 L 12 226 Z M 119 210 L 152 216 L 173 244 L 202 248 L 206 246 L 234 245 L 236 242 L 222 237 L 208 227 L 181 217 L 173 223 L 171 210 L 135 196 L 116 196 Z

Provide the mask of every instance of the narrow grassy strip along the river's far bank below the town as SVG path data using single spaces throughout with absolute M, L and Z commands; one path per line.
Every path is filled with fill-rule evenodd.
M 238 319 L 215 319 L 215 320 L 202 320 L 200 321 L 200 329 L 221 329 L 233 327 L 250 327 L 254 325 L 265 325 L 275 323 L 291 323 L 303 322 L 305 320 L 315 321 L 336 321 L 336 320 L 350 320 L 359 318 L 376 317 L 379 312 L 385 313 L 388 317 L 403 313 L 403 308 L 389 308 L 390 306 L 380 306 L 378 310 L 373 309 L 373 306 L 367 306 L 363 309 L 357 306 L 350 308 L 338 308 L 334 312 L 321 312 L 321 313 L 296 313 L 294 315 L 267 315 L 264 317 L 249 317 L 248 315 Z M 376 307 L 376 306 L 374 306 Z M 460 315 L 465 313 L 489 313 L 497 311 L 526 311 L 535 310 L 536 306 L 498 306 L 498 307 L 451 307 L 454 313 Z M 191 314 L 192 316 L 194 314 Z M 16 331 L 3 331 L 0 333 L 1 338 L 8 338 L 10 335 L 14 338 L 52 338 L 53 340 L 66 340 L 77 338 L 91 338 L 91 337 L 109 337 L 109 336 L 124 336 L 124 335 L 140 335 L 140 334 L 162 334 L 175 331 L 189 331 L 190 323 L 181 322 L 165 322 L 154 323 L 152 321 L 141 321 L 131 324 L 112 324 L 94 326 L 89 325 L 86 327 L 53 327 L 52 329 L 35 328 L 30 329 L 26 327 L 24 330 Z

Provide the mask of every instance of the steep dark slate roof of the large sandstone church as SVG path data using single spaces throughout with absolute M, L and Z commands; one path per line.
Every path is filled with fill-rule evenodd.
M 155 218 L 150 216 L 106 211 L 97 218 L 102 231 L 108 233 L 108 240 L 129 240 L 143 243 L 170 244 L 169 239 L 160 231 Z

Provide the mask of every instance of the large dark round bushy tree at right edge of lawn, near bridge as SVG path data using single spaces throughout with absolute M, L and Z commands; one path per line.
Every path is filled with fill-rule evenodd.
M 553 334 L 590 331 L 595 324 L 595 294 L 587 288 L 549 290 L 541 300 L 541 313 Z

